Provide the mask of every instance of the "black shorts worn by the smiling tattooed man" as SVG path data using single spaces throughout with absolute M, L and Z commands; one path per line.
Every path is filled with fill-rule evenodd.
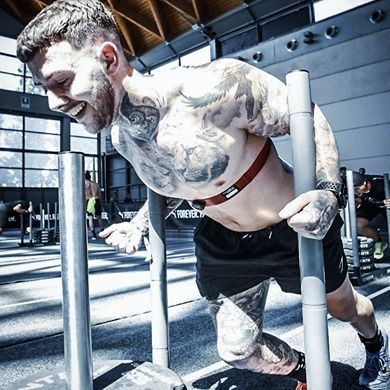
M 340 237 L 342 225 L 337 215 L 323 239 L 327 293 L 340 287 L 348 272 Z M 194 241 L 196 282 L 207 299 L 237 294 L 271 277 L 283 291 L 301 292 L 298 235 L 285 220 L 242 233 L 205 216 L 195 230 Z

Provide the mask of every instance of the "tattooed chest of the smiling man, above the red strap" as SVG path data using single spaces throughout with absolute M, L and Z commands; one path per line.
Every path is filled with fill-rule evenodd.
M 223 129 L 167 115 L 149 138 L 141 139 L 138 131 L 129 125 L 116 127 L 114 146 L 139 177 L 161 193 L 189 198 L 194 191 L 208 191 L 229 172 L 234 140 Z

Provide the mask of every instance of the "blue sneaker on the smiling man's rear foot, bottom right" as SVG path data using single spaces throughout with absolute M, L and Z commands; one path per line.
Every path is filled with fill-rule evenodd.
M 359 377 L 360 386 L 371 390 L 390 389 L 389 337 L 384 330 L 381 331 L 383 347 L 376 353 L 366 351 L 366 363 Z

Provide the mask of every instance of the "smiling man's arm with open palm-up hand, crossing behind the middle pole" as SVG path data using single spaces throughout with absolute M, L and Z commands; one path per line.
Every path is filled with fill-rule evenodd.
M 183 202 L 182 199 L 165 198 L 165 218 Z M 143 237 L 149 232 L 149 207 L 146 201 L 130 222 L 116 223 L 99 233 L 108 245 L 119 252 L 135 253 L 142 244 Z

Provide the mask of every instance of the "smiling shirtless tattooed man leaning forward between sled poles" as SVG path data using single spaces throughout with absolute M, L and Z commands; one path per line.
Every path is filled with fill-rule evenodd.
M 388 389 L 388 337 L 372 303 L 354 291 L 340 240 L 333 133 L 314 108 L 318 190 L 294 199 L 293 177 L 270 137 L 289 133 L 286 89 L 271 75 L 222 59 L 144 76 L 129 66 L 109 12 L 97 0 L 58 0 L 17 42 L 49 105 L 98 133 L 113 125 L 115 148 L 151 189 L 202 209 L 195 232 L 197 283 L 210 305 L 221 358 L 305 388 L 304 355 L 262 331 L 269 278 L 300 292 L 296 232 L 324 239 L 328 311 L 366 347 L 360 383 Z M 336 191 L 337 195 L 337 191 Z M 333 222 L 333 220 L 335 221 Z M 133 253 L 148 230 L 147 206 L 101 233 Z

